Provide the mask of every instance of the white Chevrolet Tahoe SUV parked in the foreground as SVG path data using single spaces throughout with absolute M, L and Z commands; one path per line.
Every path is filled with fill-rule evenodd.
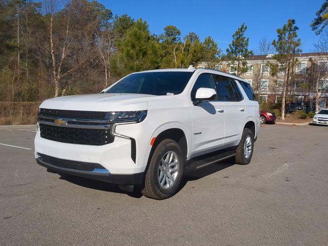
M 251 161 L 259 106 L 238 76 L 211 69 L 132 73 L 99 94 L 45 100 L 36 161 L 49 172 L 172 196 L 183 173 L 235 156 Z

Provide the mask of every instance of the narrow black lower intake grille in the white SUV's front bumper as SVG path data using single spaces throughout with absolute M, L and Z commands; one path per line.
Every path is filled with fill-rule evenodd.
M 83 161 L 75 161 L 75 160 L 65 160 L 65 159 L 59 159 L 56 157 L 52 157 L 45 154 L 40 154 L 39 159 L 49 163 L 53 166 L 60 167 L 60 168 L 69 168 L 69 169 L 75 169 L 75 170 L 83 170 L 83 171 L 93 171 L 94 169 L 104 169 L 103 166 L 101 166 L 98 163 L 91 163 L 91 162 L 83 162 Z

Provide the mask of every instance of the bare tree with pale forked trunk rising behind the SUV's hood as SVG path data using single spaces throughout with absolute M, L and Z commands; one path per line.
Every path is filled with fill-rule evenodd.
M 40 59 L 49 71 L 48 79 L 57 97 L 85 72 L 87 65 L 95 63 L 95 30 L 89 26 L 90 20 L 79 14 L 85 11 L 83 8 L 88 10 L 87 1 L 44 0 L 43 8 L 47 33 L 42 40 Z

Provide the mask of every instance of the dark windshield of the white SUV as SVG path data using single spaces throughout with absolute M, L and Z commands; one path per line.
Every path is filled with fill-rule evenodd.
M 185 89 L 192 72 L 134 73 L 120 80 L 105 93 L 176 95 Z

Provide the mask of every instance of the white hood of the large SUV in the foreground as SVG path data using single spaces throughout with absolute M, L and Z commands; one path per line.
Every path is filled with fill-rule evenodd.
M 45 100 L 40 108 L 81 111 L 134 111 L 146 110 L 149 101 L 174 98 L 174 95 L 100 93 L 50 98 Z

